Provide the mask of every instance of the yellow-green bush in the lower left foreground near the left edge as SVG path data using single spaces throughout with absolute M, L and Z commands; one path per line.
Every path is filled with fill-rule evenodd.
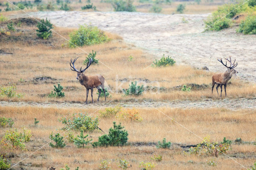
M 29 130 L 23 128 L 23 132 L 18 132 L 16 128 L 14 130 L 7 131 L 4 135 L 1 143 L 3 146 L 13 149 L 26 149 L 25 143 L 30 140 L 31 134 Z

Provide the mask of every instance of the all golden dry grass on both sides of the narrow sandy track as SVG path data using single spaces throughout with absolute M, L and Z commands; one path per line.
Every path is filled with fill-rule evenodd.
M 6 15 L 10 14 L 5 13 Z M 14 23 L 17 20 L 12 20 Z M 128 142 L 130 145 L 124 147 L 99 147 L 99 148 L 77 148 L 74 144 L 65 142 L 65 148 L 51 148 L 49 134 L 53 132 L 66 133 L 60 128 L 63 125 L 58 121 L 60 118 L 72 115 L 73 113 L 88 113 L 93 116 L 100 116 L 99 111 L 104 110 L 104 104 L 112 101 L 118 105 L 119 102 L 142 101 L 200 101 L 202 99 L 220 99 L 217 96 L 216 89 L 211 94 L 211 77 L 214 73 L 204 71 L 201 68 L 194 68 L 189 65 L 179 65 L 176 63 L 172 67 L 148 67 L 155 56 L 145 53 L 134 45 L 126 44 L 122 37 L 106 33 L 112 40 L 107 43 L 81 47 L 86 52 L 97 51 L 96 58 L 100 60 L 98 65 L 91 65 L 86 74 L 101 74 L 105 77 L 109 86 L 111 97 L 107 102 L 100 99 L 103 107 L 95 107 L 91 104 L 90 95 L 88 103 L 90 107 L 57 109 L 53 107 L 16 107 L 15 102 L 36 102 L 36 103 L 84 103 L 86 90 L 76 80 L 76 73 L 70 70 L 70 58 L 80 56 L 76 61 L 76 68 L 82 65 L 82 61 L 87 54 L 78 48 L 69 48 L 66 46 L 66 40 L 53 33 L 49 40 L 39 40 L 36 36 L 36 22 L 27 25 L 23 22 L 21 27 L 16 27 L 16 32 L 10 35 L 0 35 L 0 82 L 1 86 L 6 87 L 11 84 L 16 85 L 17 93 L 24 93 L 21 98 L 0 97 L 0 101 L 13 102 L 12 107 L 0 107 L 0 117 L 12 118 L 14 120 L 13 128 L 19 131 L 23 127 L 31 130 L 31 141 L 26 143 L 27 150 L 13 150 L 0 147 L 0 154 L 6 154 L 6 157 L 12 161 L 12 166 L 32 154 L 35 150 L 44 146 L 20 162 L 13 169 L 47 169 L 51 166 L 60 169 L 68 164 L 71 169 L 79 166 L 79 169 L 98 169 L 102 160 L 110 162 L 112 169 L 118 169 L 119 159 L 125 159 L 132 165 L 129 169 L 139 169 L 140 162 L 154 162 L 155 169 L 243 169 L 250 168 L 256 159 L 255 147 L 255 110 L 254 109 L 232 109 L 230 108 L 209 108 L 209 109 L 173 109 L 171 107 L 139 108 L 138 113 L 142 117 L 142 122 L 133 122 L 128 120 L 118 120 L 115 118 L 99 118 L 99 127 L 108 132 L 112 127 L 112 122 L 121 122 L 128 131 Z M 2 28 L 6 29 L 6 23 L 0 23 Z M 68 34 L 75 28 L 58 28 L 54 30 L 68 39 Z M 51 46 L 52 45 L 52 46 Z M 132 55 L 134 59 L 128 61 Z M 160 54 L 162 55 L 162 54 Z M 36 78 L 51 77 L 46 81 L 40 81 Z M 118 79 L 118 81 L 116 81 Z M 157 86 L 165 90 L 159 93 L 150 93 L 145 91 L 139 97 L 124 96 L 122 88 L 128 88 L 131 81 L 139 81 L 139 85 Z M 227 97 L 222 99 L 255 98 L 255 83 L 240 80 L 239 77 L 232 77 L 231 83 L 227 86 Z M 49 98 L 47 95 L 54 89 L 53 85 L 60 83 L 64 89 L 65 97 L 61 99 Z M 190 92 L 183 92 L 176 86 L 196 83 L 198 85 L 208 85 L 206 89 L 197 89 Z M 118 87 L 118 88 L 116 88 Z M 219 88 L 220 93 L 220 88 Z M 90 93 L 89 93 L 90 94 Z M 94 89 L 94 101 L 96 101 L 96 89 Z M 97 101 L 96 101 L 97 102 Z M 136 101 L 134 101 L 136 105 Z M 125 108 L 127 109 L 127 108 Z M 162 113 L 161 113 L 162 112 Z M 168 117 L 172 118 L 168 118 Z M 34 118 L 40 123 L 34 126 Z M 192 134 L 185 128 L 178 125 L 184 125 L 187 129 L 194 132 Z M 12 129 L 13 129 L 12 128 Z M 10 128 L 1 128 L 0 139 Z M 75 134 L 79 132 L 74 131 Z M 100 131 L 90 132 L 89 136 L 96 141 L 98 136 L 103 133 Z M 198 138 L 196 135 L 200 136 Z M 194 156 L 188 154 L 189 145 L 195 145 L 202 141 L 202 138 L 210 136 L 211 142 L 221 142 L 224 137 L 235 140 L 242 138 L 246 141 L 242 144 L 233 142 L 232 150 L 227 155 L 214 156 Z M 157 149 L 156 143 L 166 138 L 172 142 L 170 149 Z M 181 146 L 184 146 L 183 148 Z M 151 158 L 155 155 L 162 155 L 161 162 L 155 162 Z M 217 166 L 208 166 L 207 161 L 214 160 Z M 239 162 L 240 164 L 236 163 Z

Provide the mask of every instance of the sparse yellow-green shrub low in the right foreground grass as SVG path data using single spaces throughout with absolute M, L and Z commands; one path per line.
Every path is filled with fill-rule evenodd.
M 204 155 L 204 156 L 216 156 L 219 154 L 226 153 L 231 150 L 231 146 L 228 143 L 218 144 L 218 142 L 210 142 L 210 138 L 206 137 L 196 147 L 189 149 L 190 154 Z

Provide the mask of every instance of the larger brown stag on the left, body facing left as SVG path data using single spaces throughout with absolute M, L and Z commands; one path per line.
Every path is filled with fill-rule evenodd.
M 100 98 L 100 93 L 101 93 L 101 89 L 100 89 L 100 86 L 104 92 L 104 96 L 105 96 L 105 101 L 106 101 L 106 93 L 105 93 L 105 89 L 104 89 L 104 82 L 105 82 L 105 79 L 102 75 L 85 75 L 84 74 L 84 71 L 86 69 L 88 69 L 88 67 L 90 67 L 91 63 L 92 63 L 92 58 L 90 58 L 90 62 L 87 63 L 87 66 L 85 69 L 82 70 L 82 67 L 80 68 L 80 71 L 78 71 L 74 65 L 74 63 L 76 62 L 76 60 L 78 59 L 75 58 L 74 61 L 72 62 L 72 59 L 70 59 L 70 69 L 72 71 L 76 71 L 77 72 L 77 77 L 76 79 L 79 80 L 80 84 L 83 85 L 85 88 L 86 88 L 86 104 L 87 104 L 87 98 L 88 98 L 88 93 L 89 93 L 89 90 L 91 89 L 91 95 L 92 95 L 92 92 L 93 92 L 93 88 L 97 88 L 98 89 L 98 92 L 99 92 L 99 96 L 98 96 L 98 101 L 99 101 L 99 98 Z M 71 65 L 72 63 L 72 65 Z M 93 102 L 93 97 L 92 97 L 92 103 Z

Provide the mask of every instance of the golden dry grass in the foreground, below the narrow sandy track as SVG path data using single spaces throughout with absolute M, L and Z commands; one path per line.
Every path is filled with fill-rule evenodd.
M 161 154 L 162 162 L 157 164 L 156 169 L 197 169 L 210 168 L 206 164 L 208 160 L 217 162 L 215 168 L 218 169 L 242 169 L 242 167 L 230 160 L 226 156 L 202 157 L 190 156 L 184 154 L 184 150 L 179 146 L 197 144 L 202 141 L 188 130 L 171 121 L 168 117 L 162 115 L 155 109 L 137 108 L 143 118 L 140 123 L 131 121 L 121 121 L 122 125 L 128 131 L 128 142 L 157 142 L 166 138 L 173 143 L 170 150 L 157 149 L 155 145 L 131 145 L 125 147 L 108 147 L 108 148 L 76 148 L 74 144 L 67 143 L 63 149 L 54 149 L 47 144 L 50 141 L 49 134 L 63 127 L 58 119 L 72 113 L 93 113 L 96 109 L 56 109 L 56 108 L 38 108 L 38 107 L 1 107 L 0 117 L 11 117 L 14 120 L 14 128 L 21 130 L 23 126 L 31 130 L 31 141 L 26 144 L 26 151 L 6 150 L 1 148 L 0 152 L 8 153 L 12 162 L 18 162 L 28 154 L 32 153 L 42 145 L 46 146 L 34 153 L 32 156 L 22 161 L 14 169 L 20 167 L 29 169 L 38 169 L 54 166 L 59 169 L 68 164 L 73 169 L 79 166 L 82 169 L 96 169 L 102 160 L 108 160 L 113 169 L 118 168 L 118 160 L 125 159 L 132 164 L 132 169 L 138 169 L 139 162 L 154 162 L 150 160 L 154 155 Z M 184 125 L 186 128 L 204 138 L 209 135 L 211 141 L 222 141 L 223 137 L 234 140 L 237 137 L 244 141 L 254 141 L 256 124 L 254 121 L 255 110 L 238 110 L 230 111 L 227 109 L 166 109 L 160 108 L 160 111 L 173 118 L 175 121 Z M 99 111 L 94 113 L 94 117 L 99 115 Z M 34 118 L 40 123 L 35 127 Z M 112 127 L 112 122 L 120 122 L 116 119 L 100 118 L 99 127 L 108 132 Z M 8 128 L 3 128 L 0 132 L 0 138 Z M 58 130 L 61 133 L 64 131 Z M 78 132 L 75 132 L 78 134 Z M 93 141 L 97 140 L 102 132 L 92 132 L 89 136 Z M 62 134 L 65 136 L 65 133 Z M 104 151 L 104 152 L 102 152 Z M 232 144 L 232 150 L 227 154 L 242 165 L 249 167 L 255 161 L 255 146 L 252 144 Z M 86 154 L 85 154 L 86 153 Z M 194 163 L 189 163 L 192 160 Z

